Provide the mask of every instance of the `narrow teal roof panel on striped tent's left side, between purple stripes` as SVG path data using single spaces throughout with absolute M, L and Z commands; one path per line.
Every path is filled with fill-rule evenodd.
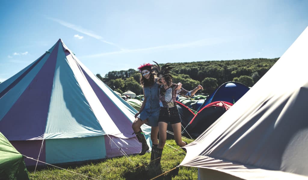
M 2 98 L 0 98 L 0 107 L 2 108 L 0 111 L 0 120 L 5 116 L 5 114 L 10 110 L 10 108 L 14 105 L 14 103 L 17 101 L 17 99 L 20 97 L 20 95 L 26 90 L 26 88 L 29 86 L 30 82 L 33 80 L 33 78 L 38 74 L 39 70 L 42 68 L 48 57 L 50 56 L 50 53 L 47 53 L 41 60 L 38 62 L 36 66 L 33 67 L 32 70 L 30 70 L 14 87 L 12 87 Z M 36 61 L 38 61 L 37 59 Z M 36 62 L 34 61 L 32 65 Z M 26 70 L 22 70 L 23 72 Z M 18 73 L 19 74 L 19 73 Z M 13 76 L 15 77 L 15 76 Z M 16 80 L 16 78 L 10 80 L 9 82 L 13 82 Z M 6 83 L 6 81 L 5 81 Z M 9 85 L 7 85 L 9 86 Z M 6 87 L 7 87 L 6 86 Z M 0 87 L 2 87 L 2 83 L 0 84 Z M 5 88 L 6 88 L 5 87 Z

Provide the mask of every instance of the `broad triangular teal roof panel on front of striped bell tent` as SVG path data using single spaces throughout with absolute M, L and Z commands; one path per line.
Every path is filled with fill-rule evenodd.
M 44 139 L 104 135 L 59 44 Z

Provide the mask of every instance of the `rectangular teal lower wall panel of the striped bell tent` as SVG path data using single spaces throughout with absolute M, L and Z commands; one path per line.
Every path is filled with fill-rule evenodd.
M 78 162 L 106 157 L 104 136 L 71 139 L 47 139 L 46 162 Z

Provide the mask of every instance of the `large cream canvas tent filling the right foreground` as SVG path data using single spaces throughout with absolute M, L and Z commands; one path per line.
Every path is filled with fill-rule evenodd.
M 237 103 L 185 146 L 180 165 L 198 167 L 199 179 L 222 174 L 308 179 L 307 67 L 308 28 Z

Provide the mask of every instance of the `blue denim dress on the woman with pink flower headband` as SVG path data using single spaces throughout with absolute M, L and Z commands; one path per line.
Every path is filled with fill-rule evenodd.
M 147 99 L 144 109 L 137 116 L 142 121 L 148 119 L 148 126 L 158 126 L 158 117 L 160 111 L 159 105 L 159 85 L 157 79 L 150 87 L 144 87 L 144 96 Z

